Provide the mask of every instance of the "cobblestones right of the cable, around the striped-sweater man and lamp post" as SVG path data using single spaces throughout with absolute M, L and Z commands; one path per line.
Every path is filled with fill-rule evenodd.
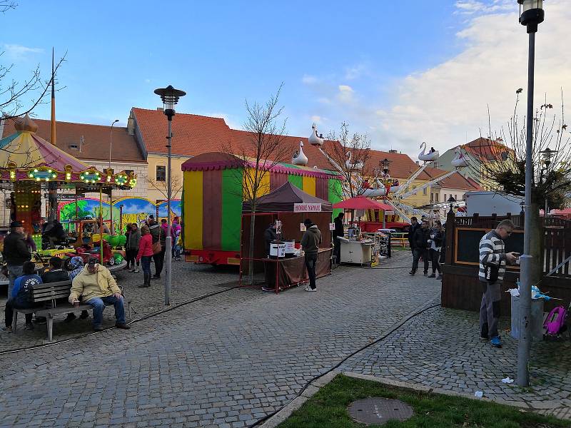
M 500 327 L 509 328 L 508 319 Z M 437 307 L 414 317 L 399 330 L 351 358 L 341 370 L 518 403 L 542 413 L 571 419 L 571 343 L 532 346 L 532 387 L 503 384 L 517 373 L 517 341 L 507 331 L 504 345 L 480 342 L 475 312 Z

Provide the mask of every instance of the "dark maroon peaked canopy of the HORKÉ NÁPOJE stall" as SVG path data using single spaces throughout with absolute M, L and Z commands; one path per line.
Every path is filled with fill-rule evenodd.
M 295 187 L 289 181 L 281 185 L 273 192 L 258 199 L 256 211 L 260 213 L 293 213 L 295 204 L 321 204 L 321 211 L 330 213 L 333 211 L 331 203 L 327 200 L 316 198 Z M 243 203 L 243 211 L 251 211 L 250 203 Z

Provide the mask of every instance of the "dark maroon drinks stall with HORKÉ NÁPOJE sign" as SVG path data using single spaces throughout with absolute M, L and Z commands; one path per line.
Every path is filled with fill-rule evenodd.
M 264 284 L 276 292 L 293 285 L 299 285 L 308 280 L 305 272 L 305 258 L 300 248 L 300 240 L 303 237 L 303 222 L 310 219 L 318 226 L 322 233 L 322 243 L 318 253 L 316 276 L 323 277 L 331 272 L 331 234 L 329 225 L 333 207 L 330 202 L 305 193 L 292 183 L 285 183 L 280 188 L 258 200 L 256 213 L 251 213 L 248 203 L 243 204 L 242 213 L 242 240 L 241 240 L 241 274 L 248 275 L 250 265 L 253 273 L 264 272 Z M 253 258 L 248 258 L 250 252 L 251 217 L 255 217 L 253 230 L 254 248 Z M 278 242 L 283 243 L 283 253 L 278 251 L 275 258 L 268 257 L 266 241 L 263 239 L 264 232 L 272 224 L 280 226 L 276 230 Z M 285 246 L 288 244 L 290 251 L 288 258 L 285 257 Z M 252 263 L 251 263 L 252 262 Z

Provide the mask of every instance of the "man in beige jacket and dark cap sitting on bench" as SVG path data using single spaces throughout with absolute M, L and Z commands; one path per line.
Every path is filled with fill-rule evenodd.
M 97 263 L 94 258 L 84 267 L 84 270 L 71 282 L 71 292 L 69 302 L 71 305 L 79 306 L 79 296 L 87 305 L 94 308 L 94 330 L 101 332 L 101 322 L 103 321 L 103 310 L 106 306 L 115 307 L 115 326 L 123 330 L 129 330 L 125 322 L 125 307 L 123 307 L 123 296 L 117 287 L 111 272 Z

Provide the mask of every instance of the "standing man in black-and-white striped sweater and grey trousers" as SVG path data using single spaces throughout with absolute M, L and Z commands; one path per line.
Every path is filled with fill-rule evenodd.
M 513 232 L 511 220 L 502 220 L 495 230 L 486 233 L 480 240 L 480 272 L 483 295 L 480 306 L 480 338 L 490 339 L 494 347 L 501 347 L 502 341 L 497 333 L 497 321 L 500 318 L 500 285 L 504 279 L 505 264 L 515 263 L 517 253 L 505 253 L 504 240 Z M 486 267 L 497 270 L 497 279 L 486 277 Z M 495 275 L 494 275 L 495 276 Z

